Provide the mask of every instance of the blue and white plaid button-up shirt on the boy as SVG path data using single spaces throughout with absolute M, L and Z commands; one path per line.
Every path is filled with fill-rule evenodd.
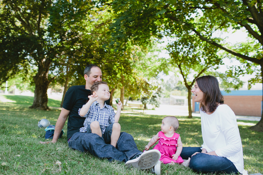
M 79 111 L 80 109 L 81 108 L 79 108 Z M 83 116 L 83 117 L 86 117 L 86 119 L 83 124 L 84 127 L 80 128 L 79 132 L 86 132 L 87 127 L 88 125 L 91 124 L 91 122 L 98 121 L 102 128 L 102 134 L 104 134 L 106 127 L 109 126 L 111 123 L 115 122 L 114 116 L 115 116 L 115 113 L 114 113 L 113 107 L 111 107 L 110 105 L 107 105 L 104 102 L 104 107 L 101 108 L 101 105 L 98 103 L 98 101 L 94 101 L 91 104 L 89 111 L 86 113 L 86 115 Z

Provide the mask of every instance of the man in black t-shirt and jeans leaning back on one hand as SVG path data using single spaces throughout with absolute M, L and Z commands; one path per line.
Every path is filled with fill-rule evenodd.
M 137 149 L 133 137 L 126 132 L 121 132 L 116 148 L 105 143 L 104 139 L 98 136 L 98 134 L 79 132 L 79 129 L 83 127 L 85 118 L 79 116 L 78 110 L 89 100 L 88 96 L 91 95 L 90 88 L 93 83 L 102 81 L 101 69 L 94 64 L 87 65 L 84 70 L 84 79 L 86 85 L 72 86 L 66 92 L 63 108 L 56 122 L 52 141 L 40 143 L 56 143 L 68 118 L 67 135 L 70 148 L 81 152 L 88 151 L 94 156 L 107 158 L 109 161 L 123 161 L 125 165 L 129 167 L 133 166 L 139 169 L 149 169 L 155 166 L 153 169 L 157 168 L 160 170 L 160 165 L 156 165 L 161 156 L 160 152 L 158 150 L 149 150 L 141 153 L 141 151 Z M 109 100 L 105 102 L 109 104 Z

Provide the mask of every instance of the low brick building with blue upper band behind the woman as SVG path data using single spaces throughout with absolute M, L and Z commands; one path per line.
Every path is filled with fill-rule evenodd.
M 236 90 L 224 95 L 224 104 L 227 104 L 236 115 L 261 116 L 262 113 L 262 90 Z M 193 112 L 199 112 L 199 103 L 194 101 Z

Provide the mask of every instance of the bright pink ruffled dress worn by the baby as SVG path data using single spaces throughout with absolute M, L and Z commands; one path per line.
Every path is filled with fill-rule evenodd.
M 172 155 L 176 153 L 177 140 L 180 134 L 174 133 L 172 137 L 167 137 L 162 131 L 160 131 L 158 132 L 158 136 L 159 142 L 153 149 L 157 149 L 161 152 L 160 161 L 162 161 L 162 163 L 175 162 L 179 164 L 184 162 L 181 156 L 179 156 L 177 160 L 172 159 Z

